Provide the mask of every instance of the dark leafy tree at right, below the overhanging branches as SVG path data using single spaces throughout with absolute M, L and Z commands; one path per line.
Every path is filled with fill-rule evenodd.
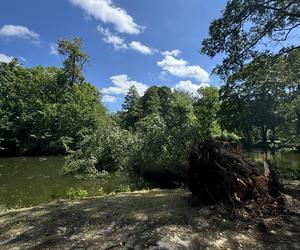
M 298 71 L 290 67 L 292 57 L 261 55 L 229 77 L 220 91 L 219 117 L 224 129 L 239 131 L 247 143 L 252 142 L 251 134 L 257 129 L 266 145 L 268 137 L 275 141 L 277 130 L 285 123 L 290 126 L 291 112 L 295 112 L 292 100 L 299 86 Z

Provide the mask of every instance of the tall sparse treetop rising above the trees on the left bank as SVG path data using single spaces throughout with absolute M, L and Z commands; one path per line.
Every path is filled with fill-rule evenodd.
M 84 81 L 83 69 L 89 61 L 89 57 L 81 50 L 81 39 L 75 37 L 72 41 L 65 38 L 58 41 L 58 52 L 67 58 L 63 62 L 64 77 L 67 83 L 72 86 Z

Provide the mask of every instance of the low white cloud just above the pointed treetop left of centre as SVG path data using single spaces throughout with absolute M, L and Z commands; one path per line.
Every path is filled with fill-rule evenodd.
M 110 79 L 113 83 L 113 86 L 102 89 L 102 93 L 104 94 L 126 95 L 129 88 L 134 85 L 138 93 L 140 95 L 143 95 L 148 88 L 148 85 L 131 80 L 127 75 L 124 74 L 112 76 Z

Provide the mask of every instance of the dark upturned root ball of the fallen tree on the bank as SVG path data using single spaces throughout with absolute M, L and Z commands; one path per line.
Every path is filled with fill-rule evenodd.
M 236 205 L 255 200 L 273 206 L 277 204 L 275 197 L 281 185 L 266 154 L 262 157 L 264 175 L 260 175 L 258 166 L 246 154 L 234 152 L 217 142 L 201 142 L 189 155 L 188 187 L 193 196 L 204 203 Z M 260 207 L 259 210 L 264 210 Z

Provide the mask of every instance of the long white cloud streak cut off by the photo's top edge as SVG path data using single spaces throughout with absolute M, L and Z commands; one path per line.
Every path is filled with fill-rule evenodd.
M 120 33 L 139 34 L 144 29 L 126 10 L 115 6 L 112 0 L 69 0 L 69 2 L 82 8 L 89 16 L 113 24 Z

